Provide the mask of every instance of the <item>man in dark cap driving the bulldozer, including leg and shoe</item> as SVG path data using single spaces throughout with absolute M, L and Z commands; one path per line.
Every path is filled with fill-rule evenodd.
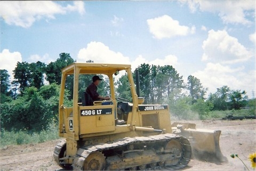
M 101 96 L 99 95 L 99 93 L 97 93 L 97 86 L 100 84 L 100 81 L 102 79 L 100 79 L 99 76 L 93 76 L 92 77 L 92 84 L 90 84 L 87 88 L 86 88 L 86 92 L 89 93 L 89 95 L 91 96 L 92 98 L 92 101 L 101 101 L 101 100 L 110 100 L 110 97 L 109 96 Z M 103 104 L 103 103 L 102 103 Z M 113 104 L 112 102 L 110 103 L 105 103 L 105 104 Z M 115 112 L 115 118 L 116 117 L 116 112 Z M 121 125 L 124 123 L 124 120 L 119 120 L 119 119 L 115 119 L 115 123 L 117 125 Z

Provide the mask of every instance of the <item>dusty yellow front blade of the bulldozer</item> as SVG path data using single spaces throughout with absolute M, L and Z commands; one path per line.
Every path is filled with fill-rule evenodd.
M 193 157 L 212 162 L 227 161 L 220 150 L 220 130 L 197 129 L 192 123 L 173 123 L 172 131 L 189 140 Z

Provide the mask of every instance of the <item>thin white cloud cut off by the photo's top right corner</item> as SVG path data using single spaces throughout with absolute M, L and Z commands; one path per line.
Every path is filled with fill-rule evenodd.
M 251 25 L 255 20 L 255 1 L 199 1 L 199 0 L 180 0 L 187 3 L 191 12 L 195 12 L 197 8 L 201 11 L 218 13 L 223 23 L 241 23 L 243 25 Z M 246 18 L 247 17 L 247 18 Z

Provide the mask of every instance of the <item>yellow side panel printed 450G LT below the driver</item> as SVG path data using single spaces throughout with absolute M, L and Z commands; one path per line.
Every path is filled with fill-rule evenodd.
M 81 134 L 115 131 L 114 105 L 79 106 Z

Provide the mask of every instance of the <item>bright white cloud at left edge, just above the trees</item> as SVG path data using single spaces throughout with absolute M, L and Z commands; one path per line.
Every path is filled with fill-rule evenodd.
M 17 62 L 22 62 L 20 52 L 10 52 L 4 49 L 0 53 L 0 69 L 6 69 L 10 75 L 10 79 L 13 80 L 13 70 L 16 67 Z

